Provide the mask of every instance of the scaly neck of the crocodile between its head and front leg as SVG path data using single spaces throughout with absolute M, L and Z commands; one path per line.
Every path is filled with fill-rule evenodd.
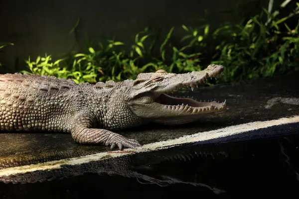
M 75 92 L 81 95 L 77 104 L 81 103 L 88 107 L 86 111 L 93 113 L 96 127 L 120 130 L 147 123 L 149 120 L 134 114 L 128 104 L 132 81 L 79 84 L 78 92 Z

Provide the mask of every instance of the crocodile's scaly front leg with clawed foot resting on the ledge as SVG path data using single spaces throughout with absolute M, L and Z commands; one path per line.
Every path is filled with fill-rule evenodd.
M 76 142 L 111 145 L 111 149 L 118 146 L 120 150 L 123 150 L 123 147 L 136 149 L 136 146 L 141 146 L 135 139 L 128 139 L 106 129 L 92 128 L 92 123 L 92 118 L 82 114 L 72 119 L 71 134 Z

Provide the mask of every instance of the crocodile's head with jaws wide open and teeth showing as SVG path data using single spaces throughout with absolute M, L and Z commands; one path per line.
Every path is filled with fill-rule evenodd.
M 208 78 L 215 78 L 224 70 L 220 65 L 209 65 L 205 70 L 185 74 L 141 73 L 133 81 L 129 100 L 132 111 L 139 117 L 163 124 L 181 124 L 194 121 L 203 113 L 221 111 L 226 102 L 201 102 L 189 98 L 175 98 L 166 93 L 190 87 L 193 91 Z

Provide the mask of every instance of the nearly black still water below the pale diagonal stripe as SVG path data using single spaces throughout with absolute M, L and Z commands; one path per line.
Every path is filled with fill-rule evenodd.
M 116 163 L 115 176 L 89 172 L 43 183 L 1 183 L 0 198 L 159 199 L 177 192 L 185 192 L 184 196 L 197 192 L 196 198 L 287 197 L 296 195 L 299 188 L 299 135 L 185 145 L 120 158 Z

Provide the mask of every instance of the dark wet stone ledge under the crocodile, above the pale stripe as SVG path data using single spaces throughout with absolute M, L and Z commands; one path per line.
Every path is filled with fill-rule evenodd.
M 227 100 L 227 110 L 203 114 L 202 119 L 192 124 L 148 124 L 120 133 L 148 144 L 251 121 L 299 115 L 299 89 L 294 84 L 298 75 L 178 92 L 174 95 L 193 96 L 197 100 Z M 77 144 L 70 134 L 0 133 L 0 169 L 106 151 L 110 149 L 105 146 Z

